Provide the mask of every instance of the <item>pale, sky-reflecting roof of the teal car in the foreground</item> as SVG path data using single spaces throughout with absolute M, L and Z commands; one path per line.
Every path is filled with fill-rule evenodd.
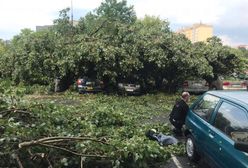
M 248 108 L 248 91 L 208 91 L 207 93 L 232 102 L 245 104 Z

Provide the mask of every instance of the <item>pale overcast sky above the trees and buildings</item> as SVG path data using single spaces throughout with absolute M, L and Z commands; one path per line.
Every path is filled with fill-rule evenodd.
M 74 19 L 97 8 L 102 0 L 72 0 Z M 159 16 L 170 22 L 170 28 L 194 23 L 213 25 L 214 35 L 225 44 L 248 45 L 248 0 L 127 0 L 138 18 Z M 23 28 L 50 25 L 59 11 L 71 6 L 71 0 L 1 0 L 0 39 L 11 39 Z

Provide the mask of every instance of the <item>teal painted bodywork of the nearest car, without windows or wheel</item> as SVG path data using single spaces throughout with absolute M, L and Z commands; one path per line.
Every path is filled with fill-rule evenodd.
M 206 95 L 219 98 L 208 121 L 193 111 Z M 190 107 L 185 122 L 186 129 L 194 137 L 198 153 L 204 156 L 213 167 L 248 167 L 248 153 L 235 149 L 235 141 L 214 125 L 218 110 L 223 107 L 223 103 L 241 109 L 248 118 L 248 92 L 208 91 Z

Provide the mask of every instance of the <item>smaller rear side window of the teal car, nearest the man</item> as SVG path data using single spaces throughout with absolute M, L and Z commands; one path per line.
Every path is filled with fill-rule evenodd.
M 194 106 L 193 112 L 199 115 L 202 119 L 209 121 L 219 100 L 218 97 L 207 94 Z

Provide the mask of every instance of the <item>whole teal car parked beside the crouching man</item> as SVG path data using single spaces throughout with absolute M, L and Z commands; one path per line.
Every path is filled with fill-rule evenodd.
M 213 168 L 248 167 L 248 92 L 208 91 L 185 121 L 186 154 Z

